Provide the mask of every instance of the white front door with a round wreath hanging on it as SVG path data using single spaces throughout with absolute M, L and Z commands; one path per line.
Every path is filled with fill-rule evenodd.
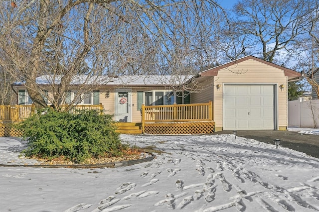
M 115 120 L 131 122 L 131 93 L 118 91 L 115 96 Z

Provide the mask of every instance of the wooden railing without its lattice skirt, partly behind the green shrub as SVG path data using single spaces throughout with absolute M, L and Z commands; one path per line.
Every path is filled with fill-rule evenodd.
M 77 105 L 75 109 L 103 109 L 103 105 Z M 22 121 L 36 112 L 33 105 L 0 106 L 0 122 Z

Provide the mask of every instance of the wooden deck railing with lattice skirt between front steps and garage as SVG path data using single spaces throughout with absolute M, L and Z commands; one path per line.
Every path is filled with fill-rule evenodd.
M 142 131 L 145 134 L 212 133 L 212 102 L 202 104 L 144 106 Z

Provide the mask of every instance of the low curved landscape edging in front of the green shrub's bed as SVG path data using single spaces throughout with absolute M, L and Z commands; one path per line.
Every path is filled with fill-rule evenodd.
M 49 164 L 0 164 L 2 167 L 36 167 L 36 168 L 78 168 L 78 169 L 91 169 L 91 168 L 117 168 L 122 166 L 132 166 L 135 164 L 148 162 L 153 160 L 156 155 L 150 152 L 145 152 L 150 154 L 150 157 L 137 159 L 137 160 L 128 160 L 128 161 L 120 161 L 120 162 L 113 162 L 113 163 L 100 163 L 100 164 L 73 164 L 73 165 L 64 165 L 64 164 L 56 164 L 56 165 L 49 165 Z

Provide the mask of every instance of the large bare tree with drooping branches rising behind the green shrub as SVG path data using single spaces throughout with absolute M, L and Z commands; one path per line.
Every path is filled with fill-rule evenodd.
M 88 92 L 101 76 L 193 74 L 216 61 L 223 17 L 213 0 L 3 0 L 0 48 L 35 106 L 49 91 L 59 109 L 72 85 Z

